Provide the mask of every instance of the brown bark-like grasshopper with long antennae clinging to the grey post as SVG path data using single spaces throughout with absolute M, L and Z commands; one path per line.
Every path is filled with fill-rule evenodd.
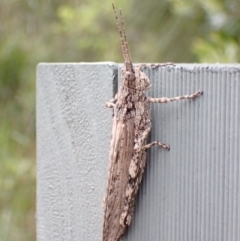
M 113 5 L 121 38 L 124 66 L 121 72 L 122 86 L 114 99 L 106 106 L 114 109 L 112 139 L 109 156 L 107 191 L 104 200 L 103 241 L 121 240 L 134 213 L 135 199 L 146 166 L 147 149 L 158 145 L 170 147 L 158 141 L 147 144 L 151 130 L 149 103 L 168 103 L 193 99 L 202 91 L 175 98 L 150 98 L 144 93 L 150 88 L 148 77 L 134 67 L 120 10 L 120 20 Z M 165 64 L 166 65 L 166 64 Z

